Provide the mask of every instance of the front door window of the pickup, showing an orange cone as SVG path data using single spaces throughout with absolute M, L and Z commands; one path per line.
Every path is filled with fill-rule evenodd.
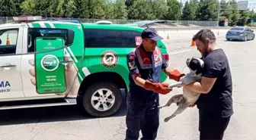
M 16 53 L 18 29 L 0 30 L 0 55 Z

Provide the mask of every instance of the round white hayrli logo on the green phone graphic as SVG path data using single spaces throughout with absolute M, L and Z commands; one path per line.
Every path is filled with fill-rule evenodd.
M 59 67 L 59 59 L 52 54 L 48 54 L 41 59 L 41 66 L 43 70 L 54 71 Z

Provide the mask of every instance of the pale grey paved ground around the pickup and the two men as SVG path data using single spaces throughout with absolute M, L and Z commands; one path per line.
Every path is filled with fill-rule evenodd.
M 188 72 L 185 65 L 186 59 L 200 56 L 197 48 L 190 47 L 193 34 L 193 32 L 169 34 L 169 39 L 165 39 L 171 67 L 184 73 Z M 224 49 L 229 58 L 234 91 L 235 114 L 230 120 L 224 139 L 255 139 L 256 95 L 253 87 L 256 74 L 253 71 L 256 68 L 256 41 L 227 42 L 225 33 L 216 34 L 216 36 L 219 48 Z M 160 104 L 165 104 L 171 96 L 176 94 L 181 94 L 181 89 L 174 89 L 168 95 L 161 95 Z M 157 140 L 198 140 L 197 107 L 187 108 L 182 114 L 165 123 L 165 117 L 171 115 L 176 108 L 177 106 L 172 104 L 171 107 L 161 110 Z M 125 104 L 113 117 L 106 118 L 89 117 L 75 106 L 2 110 L 0 111 L 0 139 L 122 140 L 125 138 L 126 131 L 125 115 Z

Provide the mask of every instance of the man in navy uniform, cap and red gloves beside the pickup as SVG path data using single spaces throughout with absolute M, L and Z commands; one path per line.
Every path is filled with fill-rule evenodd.
M 127 95 L 126 140 L 137 140 L 142 130 L 142 140 L 155 140 L 159 126 L 159 95 L 168 94 L 171 88 L 160 83 L 163 70 L 170 79 L 178 81 L 184 73 L 168 67 L 162 58 L 157 41 L 162 37 L 148 28 L 141 34 L 142 44 L 127 55 L 130 69 L 130 92 Z

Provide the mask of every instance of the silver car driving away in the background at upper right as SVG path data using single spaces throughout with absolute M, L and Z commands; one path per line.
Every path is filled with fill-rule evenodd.
M 254 36 L 254 30 L 251 30 L 247 26 L 235 26 L 226 33 L 227 40 L 242 40 L 245 42 L 247 40 L 253 40 Z

